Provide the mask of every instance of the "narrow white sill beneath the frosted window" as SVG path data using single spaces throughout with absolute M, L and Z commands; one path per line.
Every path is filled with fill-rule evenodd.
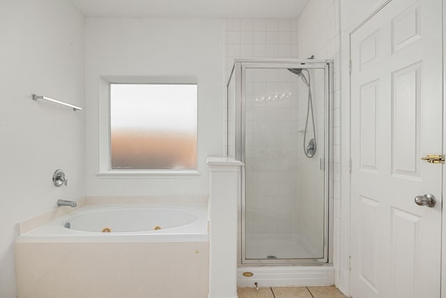
M 197 170 L 153 170 L 153 171 L 104 171 L 96 173 L 102 179 L 134 179 L 134 178 L 198 178 Z

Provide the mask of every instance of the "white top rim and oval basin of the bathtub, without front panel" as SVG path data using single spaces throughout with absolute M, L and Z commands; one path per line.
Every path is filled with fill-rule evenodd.
M 208 241 L 207 227 L 204 205 L 87 205 L 22 234 L 18 240 Z M 111 232 L 102 232 L 105 228 Z

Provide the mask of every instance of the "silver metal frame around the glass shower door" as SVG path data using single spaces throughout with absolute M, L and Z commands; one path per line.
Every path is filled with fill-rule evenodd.
M 323 258 L 295 258 L 295 259 L 247 259 L 246 258 L 246 216 L 245 216 L 245 166 L 242 167 L 242 183 L 240 202 L 238 204 L 238 263 L 240 265 L 323 265 L 332 263 L 332 202 L 330 202 L 330 124 L 332 121 L 332 111 L 330 111 L 330 102 L 333 94 L 333 61 L 316 59 L 236 59 L 229 82 L 235 80 L 235 102 L 236 102 L 236 148 L 235 158 L 245 163 L 245 86 L 246 70 L 249 68 L 307 68 L 324 70 L 324 248 Z M 229 84 L 228 82 L 228 84 Z M 238 82 L 240 82 L 238 84 Z M 237 108 L 238 107 L 238 108 Z M 332 200 L 332 199 L 331 199 Z M 330 211 L 331 210 L 331 211 Z

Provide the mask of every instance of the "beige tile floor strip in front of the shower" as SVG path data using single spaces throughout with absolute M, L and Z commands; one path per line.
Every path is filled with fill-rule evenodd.
M 334 286 L 238 288 L 238 298 L 346 298 Z

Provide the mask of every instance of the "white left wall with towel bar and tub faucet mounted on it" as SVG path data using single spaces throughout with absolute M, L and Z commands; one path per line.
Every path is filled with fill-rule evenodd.
M 85 195 L 84 18 L 68 1 L 0 1 L 0 297 L 15 295 L 16 223 Z M 68 186 L 56 188 L 62 168 Z

